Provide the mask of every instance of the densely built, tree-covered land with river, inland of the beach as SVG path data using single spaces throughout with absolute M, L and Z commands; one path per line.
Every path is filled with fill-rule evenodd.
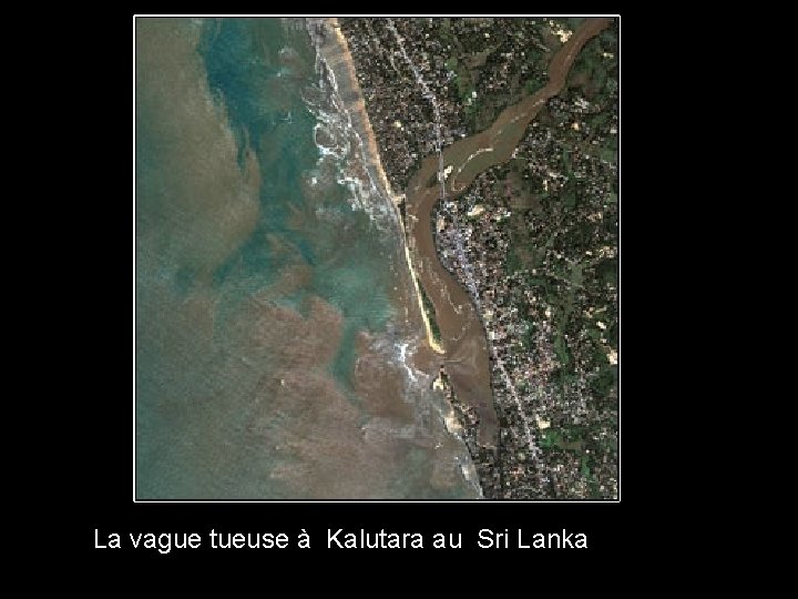
M 342 27 L 388 176 L 399 189 L 412 181 L 409 234 L 418 242 L 433 232 L 437 253 L 427 247 L 424 257 L 438 256 L 436 275 L 453 277 L 459 285 L 448 280 L 447 290 L 470 298 L 451 305 L 479 318 L 472 326 L 451 315 L 458 328 L 450 334 L 440 290 L 424 290 L 421 273 L 431 334 L 446 336 L 450 353 L 466 326 L 470 341 L 478 327 L 487 333 L 495 414 L 468 396 L 469 386 L 457 388 L 462 361 L 444 365 L 484 496 L 616 498 L 617 21 L 396 19 L 386 28 L 351 19 Z M 556 55 L 569 58 L 552 62 Z M 474 135 L 488 128 L 490 150 L 487 136 Z M 479 155 L 454 171 L 444 201 L 437 163 L 424 161 L 417 175 L 441 141 L 441 164 L 457 169 Z M 498 425 L 495 448 L 482 438 L 485 416 Z

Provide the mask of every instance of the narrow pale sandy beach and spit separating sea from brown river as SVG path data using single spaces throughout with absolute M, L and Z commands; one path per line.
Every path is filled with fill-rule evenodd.
M 324 31 L 324 35 L 316 44 L 316 50 L 321 60 L 324 60 L 327 69 L 331 72 L 335 88 L 342 102 L 341 108 L 348 114 L 352 129 L 361 142 L 360 149 L 369 175 L 377 185 L 380 194 L 389 200 L 393 206 L 393 212 L 401 230 L 400 236 L 403 246 L 405 262 L 409 270 L 418 312 L 423 323 L 427 345 L 436 354 L 443 355 L 446 351 L 434 338 L 432 326 L 423 305 L 419 277 L 410 256 L 407 226 L 399 211 L 399 204 L 405 200 L 405 195 L 393 193 L 385 169 L 382 167 L 382 160 L 380 158 L 379 146 L 377 145 L 377 136 L 371 128 L 371 121 L 366 110 L 366 102 L 362 97 L 362 91 L 360 90 L 360 83 L 357 80 L 357 70 L 351 51 L 349 50 L 349 43 L 344 33 L 341 33 L 337 18 L 309 19 L 308 21 L 311 26 L 319 27 Z

